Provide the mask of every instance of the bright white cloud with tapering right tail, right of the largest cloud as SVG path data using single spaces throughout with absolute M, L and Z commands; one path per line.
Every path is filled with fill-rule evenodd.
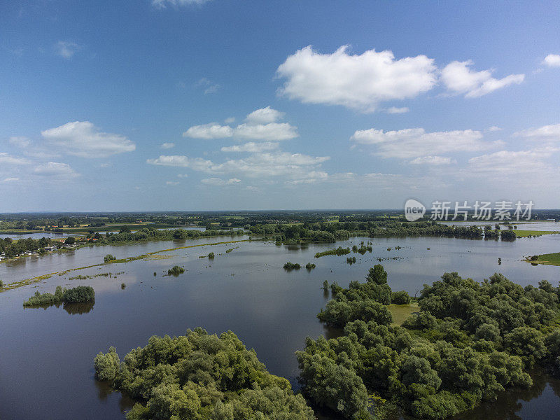
M 492 70 L 472 71 L 469 66 L 472 61 L 454 61 L 442 69 L 442 83 L 452 93 L 465 94 L 465 97 L 475 98 L 493 92 L 503 87 L 523 82 L 524 74 L 510 74 L 505 78 L 492 77 Z

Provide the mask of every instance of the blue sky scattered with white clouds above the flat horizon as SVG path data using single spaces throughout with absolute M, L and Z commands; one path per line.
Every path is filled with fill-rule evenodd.
M 559 208 L 557 2 L 0 4 L 0 211 Z

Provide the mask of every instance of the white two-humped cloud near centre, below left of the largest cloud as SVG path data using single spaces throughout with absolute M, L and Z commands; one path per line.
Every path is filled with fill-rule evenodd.
M 183 137 L 206 140 L 229 137 L 264 141 L 294 139 L 298 136 L 297 127 L 289 123 L 277 123 L 276 121 L 282 117 L 283 113 L 267 106 L 248 114 L 246 122 L 237 125 L 235 128 L 218 123 L 193 125 L 186 132 L 183 132 Z

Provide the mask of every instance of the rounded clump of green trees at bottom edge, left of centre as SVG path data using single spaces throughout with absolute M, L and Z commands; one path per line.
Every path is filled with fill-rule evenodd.
M 127 420 L 314 420 L 287 379 L 269 374 L 254 350 L 231 332 L 202 328 L 151 337 L 120 361 L 116 349 L 94 359 L 95 377 L 137 403 Z

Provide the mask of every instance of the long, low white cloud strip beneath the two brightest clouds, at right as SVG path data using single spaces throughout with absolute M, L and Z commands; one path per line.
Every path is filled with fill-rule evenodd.
M 376 146 L 375 154 L 382 158 L 412 159 L 461 151 L 482 151 L 499 146 L 500 141 L 482 141 L 482 133 L 475 130 L 426 132 L 423 128 L 398 131 L 358 130 L 351 137 L 357 144 Z

